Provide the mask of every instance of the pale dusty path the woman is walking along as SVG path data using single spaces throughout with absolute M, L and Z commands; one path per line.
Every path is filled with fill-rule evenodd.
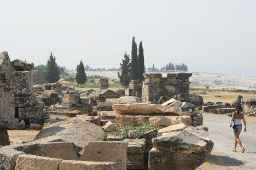
M 204 125 L 209 128 L 210 140 L 214 142 L 214 149 L 206 163 L 197 170 L 203 169 L 256 169 L 256 117 L 245 116 L 247 132 L 242 131 L 240 139 L 245 147 L 245 153 L 237 147 L 232 152 L 234 135 L 230 125 L 230 117 L 218 114 L 203 114 Z M 244 125 L 243 125 L 244 129 Z

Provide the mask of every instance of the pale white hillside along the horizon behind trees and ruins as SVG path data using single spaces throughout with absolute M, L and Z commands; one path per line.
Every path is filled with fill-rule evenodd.
M 72 71 L 75 75 L 76 72 Z M 162 77 L 166 77 L 167 73 L 175 73 L 169 71 L 146 71 L 146 74 L 160 73 Z M 239 76 L 230 76 L 217 73 L 207 72 L 191 72 L 193 73 L 190 77 L 191 84 L 199 85 L 223 85 L 223 86 L 240 86 L 240 87 L 251 87 L 256 88 L 256 78 L 247 78 Z M 87 76 L 98 75 L 108 77 L 110 79 L 118 79 L 117 71 L 86 71 Z

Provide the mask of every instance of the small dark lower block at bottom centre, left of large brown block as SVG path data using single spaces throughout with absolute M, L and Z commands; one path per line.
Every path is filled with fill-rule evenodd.
M 127 154 L 127 169 L 144 169 L 143 154 Z

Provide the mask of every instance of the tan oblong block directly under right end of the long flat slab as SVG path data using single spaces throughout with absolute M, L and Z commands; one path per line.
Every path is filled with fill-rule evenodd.
M 191 122 L 191 118 L 190 118 L 190 122 Z M 157 126 L 159 126 L 159 125 L 171 126 L 171 125 L 176 125 L 176 124 L 186 124 L 187 125 L 187 122 L 186 122 L 184 116 L 154 116 L 154 117 L 150 118 L 150 123 L 151 123 L 151 125 L 157 125 Z

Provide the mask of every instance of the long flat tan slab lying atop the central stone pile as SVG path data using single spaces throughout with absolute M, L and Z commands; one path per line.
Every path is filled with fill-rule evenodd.
M 117 114 L 154 114 L 165 113 L 171 115 L 180 115 L 179 107 L 169 107 L 155 104 L 133 103 L 133 104 L 115 104 L 112 106 Z

